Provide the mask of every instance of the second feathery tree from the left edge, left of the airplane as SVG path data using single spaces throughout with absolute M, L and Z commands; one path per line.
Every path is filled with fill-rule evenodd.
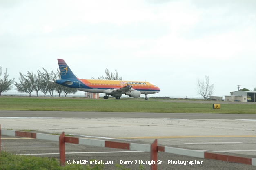
M 33 89 L 33 79 L 30 79 L 28 75 L 24 75 L 20 72 L 20 83 L 15 82 L 15 86 L 17 91 L 29 93 L 29 97 L 31 97 L 31 92 Z

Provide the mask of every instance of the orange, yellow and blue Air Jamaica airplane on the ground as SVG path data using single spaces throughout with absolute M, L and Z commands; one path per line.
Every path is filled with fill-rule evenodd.
M 79 91 L 105 93 L 106 95 L 104 96 L 104 99 L 108 99 L 108 95 L 116 97 L 116 99 L 120 99 L 123 94 L 130 97 L 140 97 L 141 94 L 144 94 L 145 100 L 147 100 L 148 94 L 160 92 L 160 88 L 149 82 L 79 79 L 73 74 L 63 59 L 58 59 L 58 64 L 61 79 L 55 80 L 55 83 L 71 88 L 77 88 Z

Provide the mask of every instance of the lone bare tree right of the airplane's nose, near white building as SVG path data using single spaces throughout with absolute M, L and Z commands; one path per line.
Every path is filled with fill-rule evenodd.
M 209 84 L 209 76 L 205 75 L 205 79 L 197 79 L 197 93 L 202 96 L 205 100 L 214 93 L 214 85 Z

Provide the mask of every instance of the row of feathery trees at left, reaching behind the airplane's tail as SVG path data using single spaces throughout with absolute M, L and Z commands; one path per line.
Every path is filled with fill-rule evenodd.
M 45 68 L 42 68 L 42 71 L 38 70 L 36 73 L 27 71 L 27 74 L 22 74 L 21 72 L 19 82 L 14 81 L 13 79 L 8 79 L 7 69 L 4 72 L 3 79 L 0 79 L 0 96 L 2 92 L 9 91 L 13 88 L 13 83 L 16 86 L 16 90 L 18 92 L 31 93 L 33 91 L 36 92 L 38 96 L 38 92 L 41 91 L 44 93 L 44 96 L 47 93 L 50 93 L 51 97 L 53 97 L 53 93 L 57 92 L 59 97 L 62 93 L 64 93 L 65 97 L 69 93 L 76 93 L 77 89 L 69 88 L 66 86 L 62 86 L 60 84 L 56 84 L 54 82 L 50 82 L 52 80 L 61 79 L 60 72 L 57 71 L 47 71 Z M 2 67 L 0 66 L 0 76 L 2 75 Z

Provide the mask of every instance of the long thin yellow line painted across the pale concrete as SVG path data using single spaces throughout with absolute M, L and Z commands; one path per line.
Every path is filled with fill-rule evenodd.
M 256 137 L 256 135 L 209 135 L 209 136 L 145 136 L 145 137 L 116 137 L 115 139 L 150 139 L 150 138 L 189 138 L 189 137 Z

